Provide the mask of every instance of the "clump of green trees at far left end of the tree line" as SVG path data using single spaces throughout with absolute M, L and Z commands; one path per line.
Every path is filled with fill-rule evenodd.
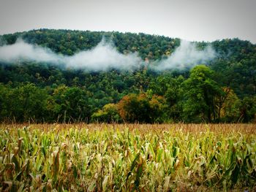
M 47 118 L 48 93 L 34 84 L 21 84 L 16 88 L 1 85 L 1 118 L 17 122 L 43 122 Z

